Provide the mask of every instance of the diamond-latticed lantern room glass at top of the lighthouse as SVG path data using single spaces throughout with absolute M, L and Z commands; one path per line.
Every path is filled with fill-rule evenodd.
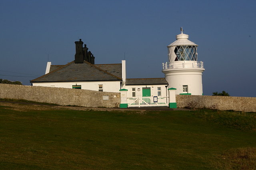
M 174 53 L 175 61 L 197 61 L 196 46 L 176 46 Z

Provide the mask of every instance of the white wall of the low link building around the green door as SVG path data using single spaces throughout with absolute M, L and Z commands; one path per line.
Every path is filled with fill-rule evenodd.
M 142 88 L 150 87 L 151 96 L 157 96 L 157 88 L 161 87 L 161 96 L 166 97 L 166 85 L 163 84 L 154 84 L 154 85 L 126 85 L 127 97 L 132 97 L 132 88 L 135 88 L 136 96 L 142 96 Z M 138 91 L 140 88 L 140 91 Z

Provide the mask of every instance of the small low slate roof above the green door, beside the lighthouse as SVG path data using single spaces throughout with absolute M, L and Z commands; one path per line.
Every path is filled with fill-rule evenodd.
M 165 78 L 126 78 L 126 85 L 168 84 Z

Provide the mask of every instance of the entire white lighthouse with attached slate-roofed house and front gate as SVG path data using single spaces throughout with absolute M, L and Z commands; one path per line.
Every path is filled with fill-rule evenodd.
M 198 45 L 188 40 L 182 28 L 176 41 L 167 46 L 168 62 L 162 63 L 165 78 L 126 78 L 125 60 L 119 64 L 94 64 L 95 57 L 86 44 L 81 39 L 75 44 L 74 61 L 66 65 L 48 62 L 45 74 L 30 81 L 32 86 L 126 91 L 127 104 L 121 101 L 120 107 L 170 106 L 170 90 L 181 95 L 203 94 L 204 68 L 203 62 L 197 61 Z

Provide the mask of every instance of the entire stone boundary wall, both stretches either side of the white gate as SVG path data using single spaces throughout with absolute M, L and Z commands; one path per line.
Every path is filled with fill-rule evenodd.
M 106 96 L 109 100 L 103 100 Z M 120 105 L 120 93 L 14 84 L 0 84 L 0 98 L 24 99 L 62 106 L 114 108 Z M 176 95 L 178 108 L 184 108 L 192 101 L 196 108 L 256 112 L 256 98 L 252 97 Z

